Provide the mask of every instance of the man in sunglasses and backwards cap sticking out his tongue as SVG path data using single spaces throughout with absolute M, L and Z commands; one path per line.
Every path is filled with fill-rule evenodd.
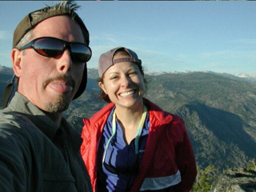
M 62 118 L 86 88 L 89 33 L 60 2 L 26 16 L 11 58 L 18 92 L 0 111 L 0 191 L 91 191 L 82 139 Z

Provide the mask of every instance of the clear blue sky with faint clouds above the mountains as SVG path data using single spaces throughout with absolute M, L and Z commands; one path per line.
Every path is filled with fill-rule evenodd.
M 256 74 L 256 2 L 77 1 L 98 67 L 102 53 L 134 50 L 144 69 Z M 14 29 L 55 1 L 0 1 L 0 65 L 11 67 Z

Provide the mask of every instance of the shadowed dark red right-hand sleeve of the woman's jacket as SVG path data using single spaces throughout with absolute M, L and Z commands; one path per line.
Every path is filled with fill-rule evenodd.
M 186 131 L 185 124 L 182 120 L 183 139 L 176 147 L 176 162 L 182 175 L 182 181 L 174 186 L 174 191 L 189 192 L 192 189 L 194 180 L 197 175 L 197 167 L 194 159 L 194 152 L 190 142 L 189 135 Z

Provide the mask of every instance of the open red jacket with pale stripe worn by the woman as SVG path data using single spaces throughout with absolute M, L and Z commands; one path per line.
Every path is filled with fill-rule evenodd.
M 174 186 L 177 192 L 189 192 L 197 175 L 194 153 L 183 120 L 162 111 L 144 99 L 150 116 L 150 133 L 131 191 L 159 190 Z M 102 129 L 114 104 L 108 104 L 84 120 L 82 129 L 82 158 L 90 174 L 91 184 L 97 191 L 96 155 Z

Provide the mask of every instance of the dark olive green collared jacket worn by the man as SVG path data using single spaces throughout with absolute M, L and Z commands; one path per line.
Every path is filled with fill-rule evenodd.
M 92 191 L 81 136 L 16 92 L 0 110 L 0 191 Z

